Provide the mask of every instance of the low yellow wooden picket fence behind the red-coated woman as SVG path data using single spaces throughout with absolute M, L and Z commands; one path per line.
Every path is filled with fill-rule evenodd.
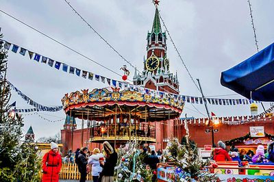
M 78 171 L 77 164 L 62 164 L 60 170 L 59 178 L 60 179 L 80 179 L 81 174 Z M 91 172 L 86 176 L 86 180 L 92 180 Z

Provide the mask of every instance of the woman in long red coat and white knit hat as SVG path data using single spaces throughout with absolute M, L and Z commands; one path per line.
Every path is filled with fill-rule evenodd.
M 42 159 L 42 182 L 58 182 L 62 167 L 62 158 L 58 153 L 58 144 L 51 142 L 51 151 Z

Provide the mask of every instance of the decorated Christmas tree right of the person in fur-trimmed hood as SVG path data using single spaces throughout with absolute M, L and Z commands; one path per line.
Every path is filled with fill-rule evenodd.
M 151 181 L 153 171 L 145 164 L 144 155 L 139 148 L 136 141 L 127 142 L 125 146 L 119 148 L 119 164 L 115 170 L 116 181 Z

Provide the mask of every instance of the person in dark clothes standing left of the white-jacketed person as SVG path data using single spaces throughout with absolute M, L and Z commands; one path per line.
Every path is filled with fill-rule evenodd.
M 80 182 L 85 182 L 86 175 L 88 174 L 87 168 L 86 168 L 86 166 L 88 166 L 86 153 L 88 153 L 88 147 L 83 147 L 77 157 L 78 170 L 81 174 Z

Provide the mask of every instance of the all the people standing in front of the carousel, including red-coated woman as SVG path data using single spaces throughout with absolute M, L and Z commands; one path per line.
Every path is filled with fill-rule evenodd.
M 149 147 L 142 149 L 142 162 L 151 168 L 157 169 L 157 164 L 160 162 L 162 152 L 160 148 L 157 153 L 151 151 Z M 75 153 L 69 151 L 66 157 L 61 157 L 58 151 L 58 144 L 51 142 L 51 150 L 46 153 L 42 160 L 42 182 L 59 181 L 59 172 L 62 163 L 75 163 L 80 173 L 80 182 L 86 181 L 89 172 L 92 174 L 93 182 L 112 182 L 114 181 L 114 168 L 117 164 L 118 155 L 109 142 L 103 142 L 102 151 L 99 148 L 94 148 L 89 151 L 87 147 L 77 148 Z M 156 180 L 156 175 L 153 176 L 153 181 Z

